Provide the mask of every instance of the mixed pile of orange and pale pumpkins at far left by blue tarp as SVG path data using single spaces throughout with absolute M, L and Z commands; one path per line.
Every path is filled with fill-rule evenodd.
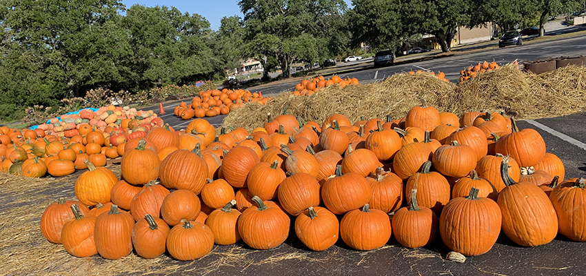
M 89 113 L 84 111 L 97 116 L 90 110 L 81 110 L 81 117 L 88 117 Z M 61 177 L 88 168 L 86 160 L 102 167 L 108 159 L 117 159 L 128 148 L 136 147 L 139 139 L 146 137 L 151 128 L 168 127 L 163 126 L 163 120 L 151 112 L 139 110 L 130 113 L 121 115 L 123 119 L 119 117 L 116 121 L 108 121 L 108 118 L 118 116 L 116 113 L 101 113 L 108 115 L 108 125 L 105 126 L 106 121 L 98 121 L 95 117 L 91 119 L 94 126 L 85 121 L 76 125 L 80 118 L 68 122 L 72 117 L 63 118 L 63 115 L 63 121 L 41 125 L 35 130 L 0 127 L 0 171 L 24 177 L 43 177 L 47 174 Z M 71 129 L 62 131 L 59 128 Z

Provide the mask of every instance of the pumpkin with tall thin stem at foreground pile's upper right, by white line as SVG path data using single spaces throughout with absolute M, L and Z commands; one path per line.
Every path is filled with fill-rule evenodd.
M 545 141 L 532 128 L 519 130 L 512 120 L 513 132 L 496 141 L 494 150 L 501 155 L 510 155 L 521 167 L 535 166 L 545 157 Z

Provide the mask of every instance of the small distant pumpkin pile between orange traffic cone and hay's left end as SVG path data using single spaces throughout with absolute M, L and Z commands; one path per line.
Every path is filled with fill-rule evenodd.
M 251 93 L 249 90 L 208 90 L 200 91 L 190 104 L 181 102 L 175 106 L 174 114 L 181 119 L 188 120 L 193 117 L 214 117 L 225 115 L 232 110 L 241 108 L 245 103 L 255 102 L 266 104 L 270 97 L 263 97 L 261 92 Z

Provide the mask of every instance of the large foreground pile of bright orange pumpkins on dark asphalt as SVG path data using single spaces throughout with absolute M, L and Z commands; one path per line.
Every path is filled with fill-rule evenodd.
M 373 250 L 391 235 L 417 248 L 440 235 L 466 256 L 489 251 L 501 230 L 521 246 L 557 233 L 586 241 L 586 224 L 572 223 L 586 208 L 584 179 L 565 179 L 539 133 L 498 112 L 458 117 L 423 101 L 401 119 L 319 123 L 279 115 L 217 137 L 203 119 L 185 132 L 152 128 L 123 155 L 121 179 L 84 172 L 78 201 L 49 206 L 41 230 L 72 255 L 107 259 L 134 248 L 191 260 L 214 244 L 265 250 L 290 235 L 310 250 L 340 237 Z

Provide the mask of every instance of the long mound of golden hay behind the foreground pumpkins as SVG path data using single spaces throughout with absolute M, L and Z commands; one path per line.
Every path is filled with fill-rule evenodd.
M 350 121 L 386 115 L 403 117 L 425 99 L 440 112 L 504 111 L 518 119 L 569 115 L 585 110 L 586 68 L 567 66 L 542 75 L 522 72 L 514 63 L 479 74 L 461 85 L 427 74 L 392 75 L 385 81 L 358 86 L 330 86 L 310 96 L 282 93 L 265 106 L 250 103 L 230 112 L 224 126 L 247 130 L 263 126 L 285 106 L 305 121 L 321 122 L 334 113 Z

